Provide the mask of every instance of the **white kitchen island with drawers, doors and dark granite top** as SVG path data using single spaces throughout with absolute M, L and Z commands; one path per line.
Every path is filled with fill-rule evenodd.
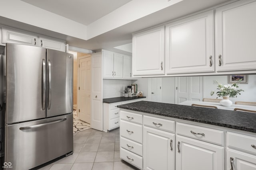
M 120 157 L 140 169 L 256 170 L 254 113 L 146 101 L 118 107 Z

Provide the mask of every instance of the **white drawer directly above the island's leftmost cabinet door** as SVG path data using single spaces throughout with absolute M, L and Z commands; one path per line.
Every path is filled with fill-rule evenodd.
M 174 132 L 175 121 L 144 115 L 143 124 L 156 129 Z

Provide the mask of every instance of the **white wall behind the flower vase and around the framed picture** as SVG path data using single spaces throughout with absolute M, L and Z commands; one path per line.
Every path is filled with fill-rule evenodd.
M 216 98 L 216 94 L 210 95 L 210 92 L 216 89 L 218 84 L 213 84 L 213 80 L 217 80 L 220 84 L 228 84 L 228 76 L 204 76 L 204 98 Z M 248 84 L 239 84 L 239 89 L 243 89 L 241 95 L 237 98 L 230 98 L 230 100 L 235 103 L 235 101 L 244 102 L 256 102 L 256 75 L 248 75 Z M 222 98 L 219 98 L 222 99 Z

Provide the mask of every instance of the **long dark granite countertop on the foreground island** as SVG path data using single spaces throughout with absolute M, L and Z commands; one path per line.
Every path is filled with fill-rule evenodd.
M 255 113 L 147 101 L 117 107 L 256 133 Z

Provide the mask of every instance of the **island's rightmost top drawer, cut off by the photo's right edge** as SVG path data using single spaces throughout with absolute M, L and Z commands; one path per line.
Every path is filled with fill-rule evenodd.
M 256 153 L 256 137 L 227 132 L 227 146 Z

